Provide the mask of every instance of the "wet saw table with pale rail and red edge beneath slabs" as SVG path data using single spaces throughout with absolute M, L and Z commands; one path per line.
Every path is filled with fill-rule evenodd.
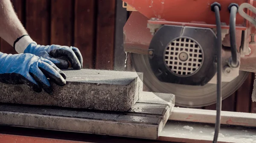
M 256 142 L 255 114 L 222 112 L 221 116 L 220 143 Z M 214 118 L 212 110 L 174 107 L 157 139 L 0 126 L 0 143 L 212 143 Z

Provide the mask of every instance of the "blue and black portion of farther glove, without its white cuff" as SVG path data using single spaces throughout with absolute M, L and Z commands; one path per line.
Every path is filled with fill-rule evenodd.
M 53 62 L 60 69 L 67 69 L 71 63 L 71 67 L 80 70 L 83 65 L 83 58 L 78 48 L 60 45 L 37 45 L 30 43 L 24 50 L 24 53 L 31 53 L 41 56 Z

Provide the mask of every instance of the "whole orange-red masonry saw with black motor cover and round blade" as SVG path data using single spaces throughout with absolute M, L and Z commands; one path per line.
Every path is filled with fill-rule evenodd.
M 256 71 L 256 1 L 122 1 L 132 11 L 123 29 L 125 52 L 145 86 L 174 94 L 176 105 L 215 104 L 219 81 L 223 100 Z

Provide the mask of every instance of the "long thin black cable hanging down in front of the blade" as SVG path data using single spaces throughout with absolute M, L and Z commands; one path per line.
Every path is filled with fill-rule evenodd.
M 222 50 L 222 40 L 221 40 L 221 17 L 220 17 L 220 7 L 219 3 L 212 4 L 212 10 L 215 12 L 216 28 L 217 28 L 217 103 L 216 103 L 216 122 L 215 122 L 215 132 L 212 143 L 217 143 L 218 134 L 221 126 L 221 50 Z

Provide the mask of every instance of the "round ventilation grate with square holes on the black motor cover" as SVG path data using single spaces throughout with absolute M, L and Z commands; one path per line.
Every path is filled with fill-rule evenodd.
M 178 38 L 165 50 L 165 63 L 178 76 L 191 76 L 201 67 L 203 53 L 200 45 L 190 38 Z

